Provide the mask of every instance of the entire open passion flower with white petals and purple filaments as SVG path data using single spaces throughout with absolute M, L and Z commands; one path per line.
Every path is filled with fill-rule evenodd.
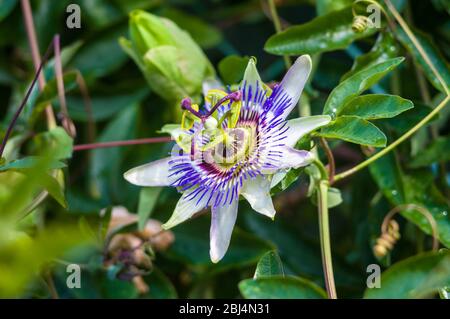
M 206 114 L 183 101 L 196 116 L 189 128 L 171 131 L 177 142 L 170 157 L 125 173 L 140 186 L 174 186 L 182 193 L 171 228 L 204 208 L 211 208 L 210 256 L 218 262 L 225 255 L 242 196 L 252 208 L 274 218 L 270 189 L 290 168 L 313 160 L 308 151 L 294 149 L 305 134 L 328 124 L 328 115 L 286 120 L 296 106 L 311 71 L 311 59 L 297 59 L 273 90 L 260 79 L 250 60 L 239 90 L 231 94 L 206 90 Z M 216 99 L 211 102 L 211 98 Z

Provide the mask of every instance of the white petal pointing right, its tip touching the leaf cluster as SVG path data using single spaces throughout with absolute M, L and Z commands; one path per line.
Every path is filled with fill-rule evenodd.
M 284 140 L 284 143 L 287 146 L 294 147 L 297 141 L 304 135 L 321 126 L 327 125 L 330 121 L 331 116 L 329 115 L 306 116 L 289 120 L 289 131 L 287 131 L 287 139 Z

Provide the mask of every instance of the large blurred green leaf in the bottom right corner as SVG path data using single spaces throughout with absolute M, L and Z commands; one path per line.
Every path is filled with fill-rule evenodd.
M 381 287 L 364 298 L 420 299 L 450 285 L 450 252 L 432 252 L 402 260 L 381 274 Z

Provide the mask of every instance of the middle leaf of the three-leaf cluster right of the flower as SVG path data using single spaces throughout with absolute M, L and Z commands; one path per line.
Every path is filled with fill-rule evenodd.
M 410 100 L 397 95 L 368 94 L 350 100 L 340 109 L 338 116 L 355 115 L 365 120 L 376 120 L 395 117 L 413 107 Z

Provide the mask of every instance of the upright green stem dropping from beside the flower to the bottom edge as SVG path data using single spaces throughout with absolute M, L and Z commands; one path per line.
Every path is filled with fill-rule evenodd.
M 328 218 L 328 172 L 319 159 L 313 164 L 320 171 L 319 187 L 317 187 L 317 203 L 319 210 L 320 251 L 322 254 L 322 267 L 325 289 L 329 299 L 337 299 L 336 285 L 334 283 L 333 259 L 331 256 L 330 223 Z

